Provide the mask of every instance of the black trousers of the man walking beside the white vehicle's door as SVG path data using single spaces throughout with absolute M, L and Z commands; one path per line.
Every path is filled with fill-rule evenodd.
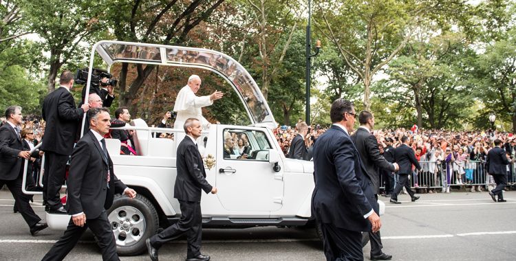
M 201 203 L 179 201 L 181 219 L 178 223 L 164 229 L 160 234 L 151 236 L 151 245 L 159 249 L 164 243 L 186 234 L 188 251 L 186 258 L 195 258 L 201 254 L 202 213 Z

